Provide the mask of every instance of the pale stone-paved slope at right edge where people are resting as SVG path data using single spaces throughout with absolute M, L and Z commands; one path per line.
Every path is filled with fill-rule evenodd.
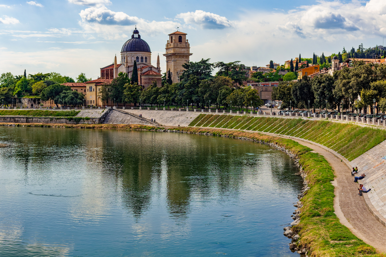
M 350 165 L 358 167 L 359 174 L 356 176 L 366 174 L 366 177 L 359 180 L 359 183 L 363 184 L 367 190 L 371 188 L 371 191 L 363 194 L 367 207 L 379 222 L 386 226 L 386 141 L 350 161 Z M 369 205 L 369 202 L 372 206 Z

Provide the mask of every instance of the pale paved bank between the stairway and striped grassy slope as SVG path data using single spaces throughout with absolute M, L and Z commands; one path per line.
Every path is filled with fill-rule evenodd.
M 134 114 L 142 114 L 142 117 L 147 119 L 156 119 L 163 126 L 188 126 L 201 112 L 186 112 L 186 111 L 152 111 L 152 110 L 130 110 L 125 111 Z M 123 123 L 129 124 L 129 123 Z M 134 123 L 133 123 L 134 124 Z M 135 123 L 144 124 L 144 123 Z

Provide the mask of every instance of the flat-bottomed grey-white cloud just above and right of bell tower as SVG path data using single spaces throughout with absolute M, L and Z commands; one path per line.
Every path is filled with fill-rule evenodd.
M 183 18 L 186 24 L 201 25 L 204 29 L 225 29 L 232 27 L 233 23 L 223 16 L 202 10 L 180 13 L 176 18 Z

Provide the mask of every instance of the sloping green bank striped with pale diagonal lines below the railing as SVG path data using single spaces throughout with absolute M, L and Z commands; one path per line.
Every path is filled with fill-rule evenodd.
M 189 126 L 245 129 L 294 136 L 322 144 L 349 161 L 386 140 L 384 129 L 326 120 L 220 115 L 211 124 L 201 122 L 213 117 L 213 114 L 200 114 Z

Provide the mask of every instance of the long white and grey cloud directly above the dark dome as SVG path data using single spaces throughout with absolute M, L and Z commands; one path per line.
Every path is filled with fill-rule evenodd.
M 167 34 L 179 26 L 179 23 L 173 21 L 150 22 L 124 12 L 113 12 L 105 6 L 86 8 L 79 15 L 82 19 L 79 24 L 85 33 L 96 33 L 106 39 L 127 38 L 132 34 L 134 25 L 137 25 L 141 34 L 146 35 Z

